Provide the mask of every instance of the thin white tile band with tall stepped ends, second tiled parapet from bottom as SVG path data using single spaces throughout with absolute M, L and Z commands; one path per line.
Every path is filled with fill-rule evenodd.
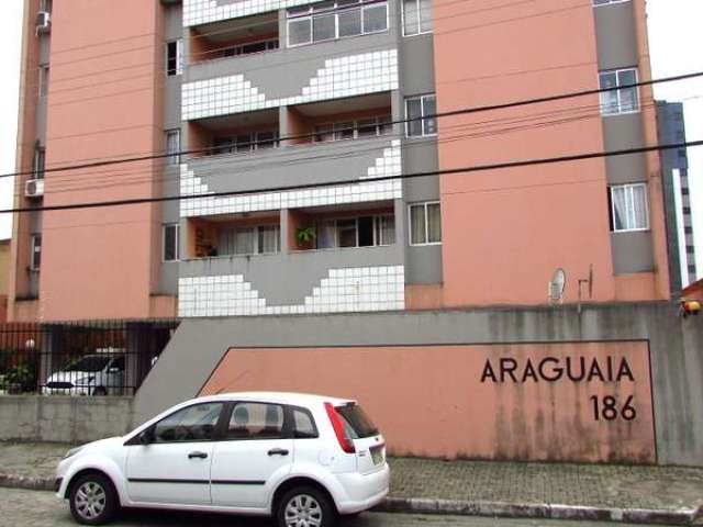
M 383 156 L 375 160 L 360 179 L 400 176 L 401 144 L 394 139 L 383 148 Z M 212 194 L 208 184 L 188 165 L 180 166 L 180 195 Z M 357 184 L 322 187 L 287 192 L 265 192 L 247 195 L 193 198 L 180 201 L 181 217 L 234 214 L 238 212 L 277 211 L 301 206 L 323 206 L 344 203 L 397 200 L 402 198 L 402 182 L 362 181 Z

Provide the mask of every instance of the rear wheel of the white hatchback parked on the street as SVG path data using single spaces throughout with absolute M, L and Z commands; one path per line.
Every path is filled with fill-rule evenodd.
M 332 527 L 337 519 L 334 504 L 314 486 L 291 489 L 279 501 L 278 527 Z

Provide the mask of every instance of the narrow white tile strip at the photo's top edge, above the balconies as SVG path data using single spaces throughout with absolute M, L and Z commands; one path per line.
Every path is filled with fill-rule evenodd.
M 183 0 L 183 27 L 249 16 L 320 0 Z

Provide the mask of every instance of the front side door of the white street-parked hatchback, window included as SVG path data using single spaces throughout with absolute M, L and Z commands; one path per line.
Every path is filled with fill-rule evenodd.
M 222 402 L 193 404 L 150 426 L 147 445 L 135 438 L 125 468 L 130 500 L 210 505 L 210 467 L 224 408 Z

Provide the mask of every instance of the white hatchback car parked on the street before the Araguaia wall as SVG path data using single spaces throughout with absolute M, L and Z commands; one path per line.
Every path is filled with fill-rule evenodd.
M 75 448 L 56 495 L 85 525 L 120 507 L 272 515 L 280 527 L 328 527 L 380 503 L 386 445 L 354 401 L 293 393 L 194 399 L 124 437 Z

